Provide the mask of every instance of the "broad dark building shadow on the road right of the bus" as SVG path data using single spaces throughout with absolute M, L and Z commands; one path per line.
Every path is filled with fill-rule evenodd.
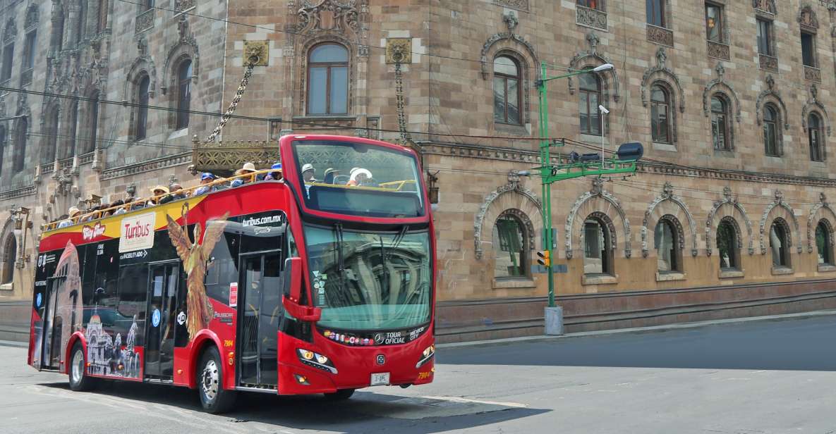
M 836 371 L 836 315 L 439 348 L 451 365 Z

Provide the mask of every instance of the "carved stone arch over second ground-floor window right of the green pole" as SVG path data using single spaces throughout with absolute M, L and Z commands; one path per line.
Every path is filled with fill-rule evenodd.
M 689 238 L 691 240 L 691 256 L 696 256 L 699 254 L 699 247 L 696 242 L 696 220 L 694 220 L 694 216 L 691 214 L 691 211 L 688 209 L 688 206 L 685 204 L 679 196 L 673 194 L 673 185 L 669 182 L 665 183 L 665 187 L 660 194 L 659 197 L 650 202 L 648 205 L 647 210 L 645 211 L 645 219 L 642 220 L 641 224 L 641 255 L 642 257 L 647 257 L 648 253 L 650 252 L 650 245 L 649 245 L 649 236 L 648 231 L 650 228 L 656 227 L 656 223 L 658 223 L 663 217 L 670 216 L 674 222 L 677 230 L 680 231 L 679 237 L 679 249 L 685 250 L 686 247 L 686 236 L 685 231 L 682 228 L 681 220 L 685 220 L 688 224 L 688 235 L 691 235 Z

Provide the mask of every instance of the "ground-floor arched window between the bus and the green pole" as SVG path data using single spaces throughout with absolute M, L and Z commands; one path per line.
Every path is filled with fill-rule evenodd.
M 496 257 L 494 277 L 523 277 L 528 269 L 525 226 L 513 214 L 503 213 L 493 226 Z

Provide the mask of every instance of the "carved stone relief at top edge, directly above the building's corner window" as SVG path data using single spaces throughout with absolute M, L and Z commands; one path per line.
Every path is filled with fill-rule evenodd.
M 357 0 L 301 0 L 298 33 L 359 33 Z

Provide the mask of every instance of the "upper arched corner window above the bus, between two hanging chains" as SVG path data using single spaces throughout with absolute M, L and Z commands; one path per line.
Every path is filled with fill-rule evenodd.
M 323 43 L 308 54 L 308 114 L 349 113 L 349 50 Z

